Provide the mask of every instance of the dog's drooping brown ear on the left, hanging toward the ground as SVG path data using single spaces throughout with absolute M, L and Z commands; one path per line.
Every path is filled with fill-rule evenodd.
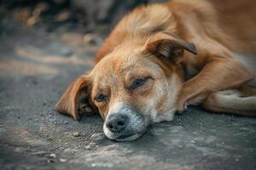
M 90 103 L 90 84 L 88 75 L 81 76 L 72 82 L 56 103 L 55 111 L 73 116 L 75 120 L 79 120 L 80 107 L 84 107 L 85 103 L 88 106 Z

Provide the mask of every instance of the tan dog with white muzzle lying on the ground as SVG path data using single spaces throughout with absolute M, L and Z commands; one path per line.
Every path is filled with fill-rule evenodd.
M 135 8 L 55 110 L 90 105 L 108 139 L 131 141 L 188 105 L 256 116 L 256 2 L 173 0 Z

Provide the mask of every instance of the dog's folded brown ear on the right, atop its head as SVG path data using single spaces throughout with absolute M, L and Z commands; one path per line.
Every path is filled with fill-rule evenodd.
M 149 37 L 146 44 L 146 50 L 158 57 L 166 57 L 172 62 L 177 62 L 179 57 L 183 55 L 183 50 L 189 51 L 192 54 L 197 54 L 193 43 L 173 37 L 166 32 L 159 32 L 154 36 Z

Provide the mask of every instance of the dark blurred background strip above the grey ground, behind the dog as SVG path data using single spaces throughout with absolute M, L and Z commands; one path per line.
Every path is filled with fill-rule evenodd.
M 155 2 L 165 0 L 2 0 L 1 20 L 9 15 L 20 26 L 106 34 L 132 8 Z

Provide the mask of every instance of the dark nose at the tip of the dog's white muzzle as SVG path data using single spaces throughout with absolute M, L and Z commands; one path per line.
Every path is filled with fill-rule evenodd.
M 119 133 L 124 130 L 127 123 L 128 116 L 116 114 L 108 117 L 107 127 L 112 133 Z

